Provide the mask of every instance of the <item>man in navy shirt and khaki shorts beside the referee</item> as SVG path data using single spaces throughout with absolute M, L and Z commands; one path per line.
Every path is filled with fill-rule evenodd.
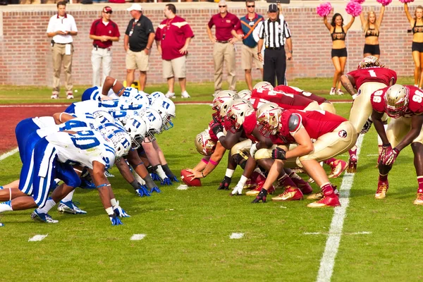
M 263 77 L 263 64 L 259 60 L 257 54 L 257 42 L 255 41 L 252 32 L 255 30 L 257 25 L 264 20 L 262 15 L 255 13 L 255 1 L 247 0 L 245 2 L 247 6 L 247 15 L 240 18 L 241 27 L 243 29 L 243 47 L 241 53 L 241 66 L 245 71 L 245 82 L 249 90 L 252 90 L 252 75 L 251 69 L 254 65 L 255 68 L 259 68 L 262 72 Z

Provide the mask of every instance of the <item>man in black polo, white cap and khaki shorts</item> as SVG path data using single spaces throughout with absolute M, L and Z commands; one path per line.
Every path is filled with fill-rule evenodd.
M 127 9 L 133 17 L 125 32 L 123 45 L 126 51 L 126 85 L 132 85 L 135 69 L 140 71 L 140 90 L 144 91 L 147 82 L 149 52 L 154 42 L 152 21 L 142 14 L 140 4 Z

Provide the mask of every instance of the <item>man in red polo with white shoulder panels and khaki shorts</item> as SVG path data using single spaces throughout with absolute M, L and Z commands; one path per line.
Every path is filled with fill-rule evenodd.
M 186 60 L 188 45 L 194 33 L 190 25 L 179 16 L 176 16 L 176 7 L 167 4 L 164 8 L 163 20 L 156 30 L 156 44 L 161 54 L 163 78 L 167 79 L 168 92 L 166 97 L 175 98 L 175 77 L 179 80 L 181 97 L 189 98 L 186 90 Z

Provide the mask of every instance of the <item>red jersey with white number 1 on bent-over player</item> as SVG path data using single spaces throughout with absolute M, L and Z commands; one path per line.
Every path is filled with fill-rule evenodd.
M 393 79 L 393 83 L 396 83 L 396 72 L 390 70 L 389 68 L 360 68 L 358 70 L 351 71 L 348 75 L 351 75 L 354 78 L 355 89 L 357 90 L 365 82 L 379 82 L 388 86 L 391 84 L 391 80 Z

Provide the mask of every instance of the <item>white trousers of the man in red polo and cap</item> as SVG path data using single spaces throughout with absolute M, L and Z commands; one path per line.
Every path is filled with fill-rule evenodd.
M 92 86 L 102 86 L 106 76 L 111 72 L 111 49 L 95 48 L 91 52 L 92 63 Z M 102 66 L 103 74 L 100 80 L 100 67 Z

